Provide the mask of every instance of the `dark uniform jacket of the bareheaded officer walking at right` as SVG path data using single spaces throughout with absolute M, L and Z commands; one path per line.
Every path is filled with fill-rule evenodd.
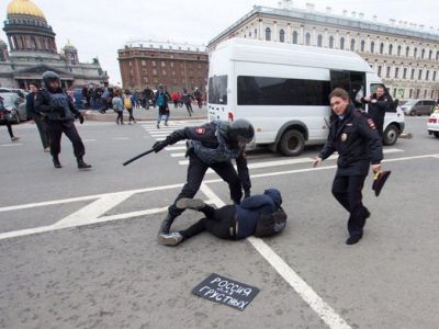
M 349 105 L 345 117 L 337 117 L 330 125 L 319 158 L 325 160 L 335 151 L 339 155 L 337 175 L 368 175 L 369 163 L 378 164 L 383 159 L 381 138 L 372 118 Z

